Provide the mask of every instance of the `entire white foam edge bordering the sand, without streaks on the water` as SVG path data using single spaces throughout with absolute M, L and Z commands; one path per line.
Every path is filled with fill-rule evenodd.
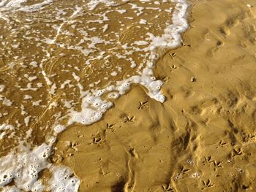
M 154 50 L 161 47 L 178 47 L 181 44 L 181 33 L 187 29 L 187 3 L 183 0 L 172 0 L 176 4 L 176 9 L 173 12 L 173 24 L 165 28 L 165 34 L 162 37 L 154 37 L 151 39 L 151 58 L 157 58 Z M 175 39 L 175 42 L 170 42 L 170 39 Z M 161 44 L 159 44 L 162 42 Z M 116 82 L 116 87 L 110 86 L 105 88 L 105 90 L 94 91 L 90 93 L 87 91 L 82 99 L 82 111 L 70 111 L 69 112 L 69 123 L 82 123 L 91 124 L 102 118 L 102 114 L 108 110 L 112 103 L 110 101 L 102 101 L 100 98 L 102 93 L 105 91 L 118 91 L 120 94 L 126 93 L 129 89 L 131 83 L 137 83 L 145 86 L 148 89 L 148 96 L 157 101 L 164 102 L 165 96 L 160 92 L 160 88 L 163 84 L 162 81 L 155 80 L 152 72 L 153 64 L 148 63 L 143 72 L 140 75 L 129 77 L 127 80 Z M 96 93 L 96 95 L 95 95 Z M 96 105 L 97 104 L 97 105 Z M 65 127 L 56 128 L 56 134 L 64 131 Z M 72 172 L 67 167 L 58 168 L 58 171 L 54 166 L 48 163 L 47 159 L 51 154 L 52 144 L 55 142 L 53 138 L 49 144 L 43 143 L 33 150 L 29 148 L 21 147 L 22 150 L 19 152 L 11 152 L 6 156 L 0 158 L 0 188 L 3 191 L 18 191 L 22 189 L 23 191 L 42 191 L 44 186 L 40 182 L 39 172 L 43 169 L 50 169 L 52 166 L 53 177 L 50 180 L 50 188 L 56 191 L 60 188 L 67 189 L 69 191 L 78 191 L 79 180 L 73 176 Z M 64 183 L 60 183 L 59 180 L 56 181 L 56 177 L 60 175 L 64 176 Z M 15 183 L 15 186 L 6 186 L 11 182 Z

